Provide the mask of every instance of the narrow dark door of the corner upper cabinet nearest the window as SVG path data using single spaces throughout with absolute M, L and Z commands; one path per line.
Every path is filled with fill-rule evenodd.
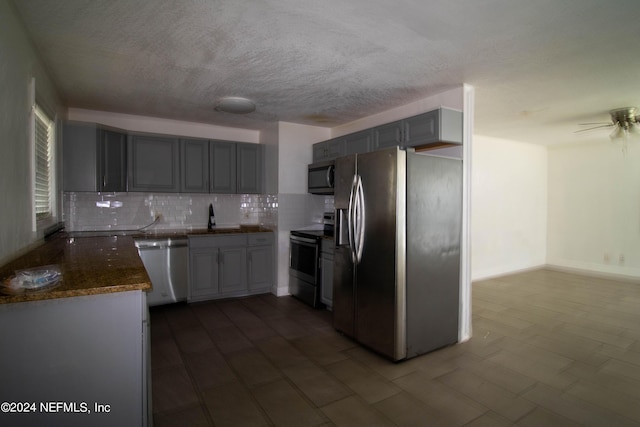
M 127 135 L 110 130 L 100 131 L 101 191 L 127 191 Z

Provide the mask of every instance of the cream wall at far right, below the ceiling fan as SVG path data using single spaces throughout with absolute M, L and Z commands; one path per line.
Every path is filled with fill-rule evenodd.
M 548 264 L 640 277 L 640 142 L 549 148 Z

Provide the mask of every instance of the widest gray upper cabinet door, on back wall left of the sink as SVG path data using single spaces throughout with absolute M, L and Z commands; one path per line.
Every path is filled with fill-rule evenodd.
M 129 191 L 180 191 L 176 138 L 133 135 L 129 141 Z

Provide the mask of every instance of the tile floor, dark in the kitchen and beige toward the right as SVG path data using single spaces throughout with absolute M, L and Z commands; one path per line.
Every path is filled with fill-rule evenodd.
M 640 284 L 473 285 L 473 338 L 392 363 L 262 295 L 151 311 L 154 425 L 638 426 Z

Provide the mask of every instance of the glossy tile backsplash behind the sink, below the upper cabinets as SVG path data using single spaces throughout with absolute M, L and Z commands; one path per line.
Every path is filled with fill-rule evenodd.
M 209 203 L 218 225 L 276 227 L 278 196 L 268 194 L 64 193 L 68 231 L 205 228 Z

